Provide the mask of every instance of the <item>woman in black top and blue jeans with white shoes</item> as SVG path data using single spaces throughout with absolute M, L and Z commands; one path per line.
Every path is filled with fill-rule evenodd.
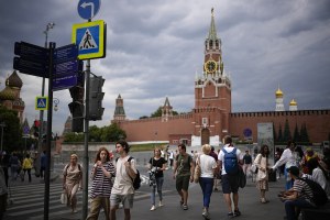
M 154 184 L 152 184 L 152 193 L 151 193 L 151 201 L 152 207 L 151 211 L 156 209 L 156 188 L 160 196 L 160 204 L 158 207 L 163 207 L 163 183 L 164 183 L 164 170 L 166 169 L 166 161 L 164 157 L 161 157 L 161 148 L 156 147 L 154 150 L 154 156 L 150 158 L 148 161 L 148 169 L 151 173 L 151 176 L 154 177 Z

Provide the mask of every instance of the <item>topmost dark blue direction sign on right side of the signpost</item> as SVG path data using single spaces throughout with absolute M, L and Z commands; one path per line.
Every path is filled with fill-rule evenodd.
M 54 51 L 54 63 L 61 64 L 68 61 L 75 61 L 78 56 L 78 46 L 76 44 L 68 44 L 58 47 Z

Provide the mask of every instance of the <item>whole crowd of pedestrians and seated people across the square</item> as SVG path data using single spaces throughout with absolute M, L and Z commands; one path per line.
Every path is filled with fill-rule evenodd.
M 312 188 L 307 184 L 305 178 L 310 179 L 330 196 L 330 151 L 324 148 L 322 154 L 318 154 L 314 148 L 308 147 L 304 152 L 295 142 L 289 141 L 286 148 L 280 151 L 276 148 L 275 164 L 270 163 L 270 146 L 262 145 L 258 151 L 250 154 L 250 150 L 241 152 L 235 147 L 230 136 L 224 138 L 224 146 L 218 152 L 213 146 L 205 144 L 200 151 L 187 152 L 185 144 L 179 144 L 177 150 L 155 147 L 153 155 L 148 160 L 148 174 L 151 187 L 151 211 L 165 206 L 163 195 L 164 175 L 173 175 L 176 190 L 179 197 L 179 206 L 183 210 L 188 210 L 189 185 L 190 183 L 199 183 L 202 201 L 201 216 L 210 219 L 210 205 L 213 191 L 219 190 L 219 182 L 222 188 L 224 205 L 228 209 L 228 217 L 239 217 L 239 188 L 240 175 L 239 169 L 248 176 L 251 175 L 252 166 L 256 167 L 255 187 L 260 194 L 260 202 L 270 202 L 266 193 L 270 190 L 270 174 L 277 173 L 285 177 L 284 189 L 278 193 L 278 197 L 284 201 L 286 210 L 286 219 L 296 220 L 299 216 L 300 208 L 316 208 L 318 205 L 312 200 Z M 134 179 L 139 172 L 136 169 L 136 161 L 130 156 L 130 146 L 125 141 L 116 143 L 117 156 L 109 152 L 106 147 L 99 148 L 95 163 L 90 173 L 91 190 L 90 190 L 90 210 L 87 220 L 98 219 L 100 210 L 103 209 L 106 219 L 116 220 L 117 210 L 123 208 L 124 219 L 131 219 L 131 209 L 133 208 L 135 189 Z M 45 155 L 45 152 L 44 152 Z M 43 157 L 43 156 L 42 156 Z M 117 158 L 116 158 L 117 157 Z M 10 166 L 4 166 L 6 161 Z M 45 163 L 45 157 L 41 160 Z M 14 180 L 18 176 L 19 168 L 23 169 L 24 180 L 28 173 L 29 182 L 31 182 L 31 169 L 33 168 L 33 160 L 29 154 L 24 160 L 19 160 L 18 155 L 12 154 L 8 160 L 4 155 L 1 157 L 2 168 L 0 175 L 3 176 L 0 182 L 0 209 L 4 209 L 8 194 L 6 185 L 8 185 L 8 170 L 11 169 L 11 178 Z M 6 167 L 3 169 L 3 167 Z M 195 177 L 196 168 L 199 167 L 200 173 Z M 70 161 L 63 169 L 63 190 L 66 194 L 66 205 L 72 212 L 77 212 L 77 191 L 82 189 L 82 167 L 78 163 L 76 154 L 70 155 Z M 43 165 L 41 164 L 41 176 L 43 176 Z M 6 177 L 7 176 L 7 177 Z M 195 179 L 194 179 L 195 178 Z M 158 202 L 156 202 L 156 195 Z M 4 204 L 3 204 L 4 201 Z

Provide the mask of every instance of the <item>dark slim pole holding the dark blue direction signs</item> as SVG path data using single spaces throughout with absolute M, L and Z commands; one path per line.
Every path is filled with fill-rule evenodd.
M 53 52 L 56 44 L 50 42 L 50 66 L 53 66 Z M 51 144 L 52 144 L 52 122 L 53 122 L 53 68 L 48 73 L 48 110 L 47 110 L 47 139 L 46 139 L 46 170 L 45 170 L 45 199 L 44 220 L 48 220 L 50 215 L 50 183 L 51 183 Z

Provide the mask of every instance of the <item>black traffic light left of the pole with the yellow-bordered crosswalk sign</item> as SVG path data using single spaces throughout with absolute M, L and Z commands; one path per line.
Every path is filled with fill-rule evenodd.
M 73 102 L 68 105 L 68 108 L 73 116 L 72 131 L 84 131 L 84 94 L 85 94 L 85 80 L 82 72 L 84 63 L 79 62 L 79 70 L 77 76 L 77 86 L 69 89 Z

